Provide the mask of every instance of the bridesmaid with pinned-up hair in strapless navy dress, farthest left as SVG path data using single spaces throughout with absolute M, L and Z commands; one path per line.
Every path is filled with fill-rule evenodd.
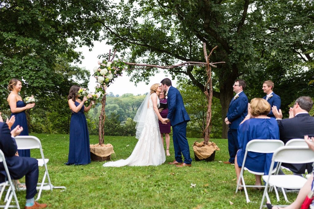
M 8 89 L 11 93 L 8 96 L 8 103 L 11 109 L 11 116 L 15 116 L 15 123 L 11 127 L 13 130 L 17 125 L 23 127 L 23 131 L 19 134 L 20 136 L 28 136 L 28 127 L 25 110 L 35 106 L 35 103 L 25 104 L 22 97 L 19 96 L 19 92 L 22 88 L 22 82 L 19 79 L 12 78 L 9 82 Z M 20 157 L 30 157 L 30 149 L 18 149 Z

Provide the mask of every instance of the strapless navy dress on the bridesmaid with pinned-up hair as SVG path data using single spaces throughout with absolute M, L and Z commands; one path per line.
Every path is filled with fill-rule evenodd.
M 23 101 L 17 101 L 16 107 L 25 107 Z M 11 127 L 11 130 L 14 129 L 17 125 L 23 127 L 23 131 L 19 134 L 20 136 L 28 136 L 28 126 L 25 111 L 12 113 L 11 116 L 15 116 L 15 122 Z M 18 149 L 20 157 L 30 157 L 30 149 Z

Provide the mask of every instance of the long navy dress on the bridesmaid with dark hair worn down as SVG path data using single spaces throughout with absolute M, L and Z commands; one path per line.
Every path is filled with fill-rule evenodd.
M 77 107 L 80 103 L 75 101 L 74 104 Z M 86 165 L 89 163 L 89 133 L 83 105 L 80 111 L 72 111 L 70 122 L 69 158 L 66 165 Z

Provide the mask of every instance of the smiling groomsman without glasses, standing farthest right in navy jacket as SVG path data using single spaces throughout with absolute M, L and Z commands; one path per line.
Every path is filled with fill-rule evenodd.
M 281 99 L 277 94 L 273 92 L 274 89 L 273 81 L 264 81 L 262 89 L 264 93 L 266 93 L 266 96 L 263 97 L 263 99 L 266 99 L 266 101 L 270 104 L 270 107 L 276 106 L 277 110 L 279 110 L 281 105 Z M 267 116 L 271 118 L 276 118 L 272 110 L 270 110 Z

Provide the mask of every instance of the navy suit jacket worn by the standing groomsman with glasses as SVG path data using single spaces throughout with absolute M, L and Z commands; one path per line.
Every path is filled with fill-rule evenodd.
M 231 123 L 229 128 L 238 129 L 239 124 L 247 115 L 247 103 L 249 102 L 244 91 L 242 91 L 236 99 L 231 100 L 229 109 L 227 112 L 227 118 Z

